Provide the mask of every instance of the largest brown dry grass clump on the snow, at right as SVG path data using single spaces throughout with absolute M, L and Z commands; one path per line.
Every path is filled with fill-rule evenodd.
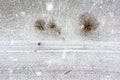
M 84 13 L 80 16 L 80 24 L 82 25 L 82 32 L 88 34 L 98 27 L 99 22 L 92 14 Z

